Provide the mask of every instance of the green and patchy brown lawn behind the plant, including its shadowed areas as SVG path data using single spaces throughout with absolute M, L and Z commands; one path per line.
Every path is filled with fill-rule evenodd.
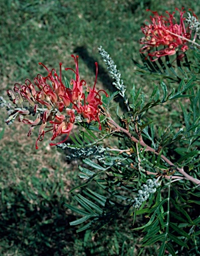
M 191 8 L 200 15 L 199 1 L 116 0 L 1 0 L 1 87 L 24 83 L 47 67 L 74 67 L 71 54 L 79 55 L 80 76 L 93 85 L 98 61 L 98 87 L 113 91 L 112 80 L 98 55 L 102 45 L 114 59 L 129 92 L 133 83 L 148 91 L 151 81 L 134 72 L 139 59 L 140 27 L 146 9 L 173 11 Z M 65 74 L 68 77 L 68 73 Z M 77 163 L 68 165 L 62 152 L 48 139 L 35 149 L 37 133 L 27 137 L 26 125 L 5 126 L 1 110 L 0 132 L 0 255 L 138 255 L 140 233 L 131 230 L 132 219 L 119 219 L 97 235 L 76 234 L 73 215 L 63 205 L 68 191 L 80 181 Z M 147 248 L 144 255 L 155 255 Z

